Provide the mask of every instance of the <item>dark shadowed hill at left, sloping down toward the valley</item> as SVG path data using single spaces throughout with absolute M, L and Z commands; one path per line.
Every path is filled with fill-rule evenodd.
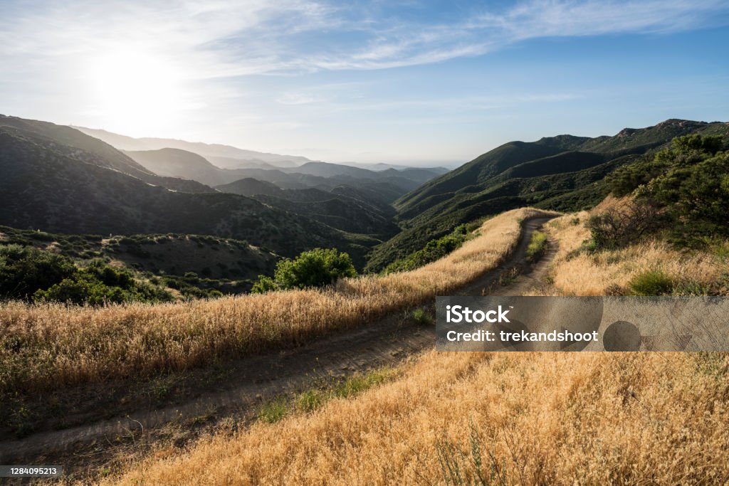
M 216 235 L 247 240 L 283 256 L 335 246 L 351 252 L 359 265 L 367 251 L 363 243 L 376 242 L 250 197 L 166 189 L 154 184 L 164 178 L 104 142 L 43 122 L 0 119 L 0 173 L 0 224 L 9 227 Z

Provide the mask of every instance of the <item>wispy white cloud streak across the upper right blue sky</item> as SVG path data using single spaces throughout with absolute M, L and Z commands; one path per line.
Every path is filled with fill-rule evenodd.
M 502 12 L 474 8 L 451 23 L 375 24 L 364 48 L 306 61 L 323 69 L 394 68 L 483 55 L 527 39 L 668 34 L 728 23 L 729 5 L 720 0 L 534 0 Z

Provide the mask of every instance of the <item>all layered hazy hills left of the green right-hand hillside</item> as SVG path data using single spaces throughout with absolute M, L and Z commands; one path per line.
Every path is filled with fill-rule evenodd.
M 0 224 L 61 233 L 196 233 L 248 240 L 283 256 L 315 246 L 349 251 L 362 267 L 391 238 L 392 201 L 443 173 L 369 171 L 231 146 L 87 133 L 0 116 Z M 211 159 L 257 167 L 221 168 Z M 232 156 L 232 157 L 230 157 Z M 234 160 L 235 162 L 230 162 Z M 281 166 L 275 166 L 281 165 Z

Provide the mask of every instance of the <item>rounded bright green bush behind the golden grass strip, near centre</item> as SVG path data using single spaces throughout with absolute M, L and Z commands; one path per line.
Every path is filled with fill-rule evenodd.
M 259 275 L 252 292 L 272 290 L 309 289 L 335 283 L 339 278 L 357 275 L 352 260 L 336 248 L 314 248 L 304 251 L 293 260 L 284 259 L 276 264 L 273 279 Z

